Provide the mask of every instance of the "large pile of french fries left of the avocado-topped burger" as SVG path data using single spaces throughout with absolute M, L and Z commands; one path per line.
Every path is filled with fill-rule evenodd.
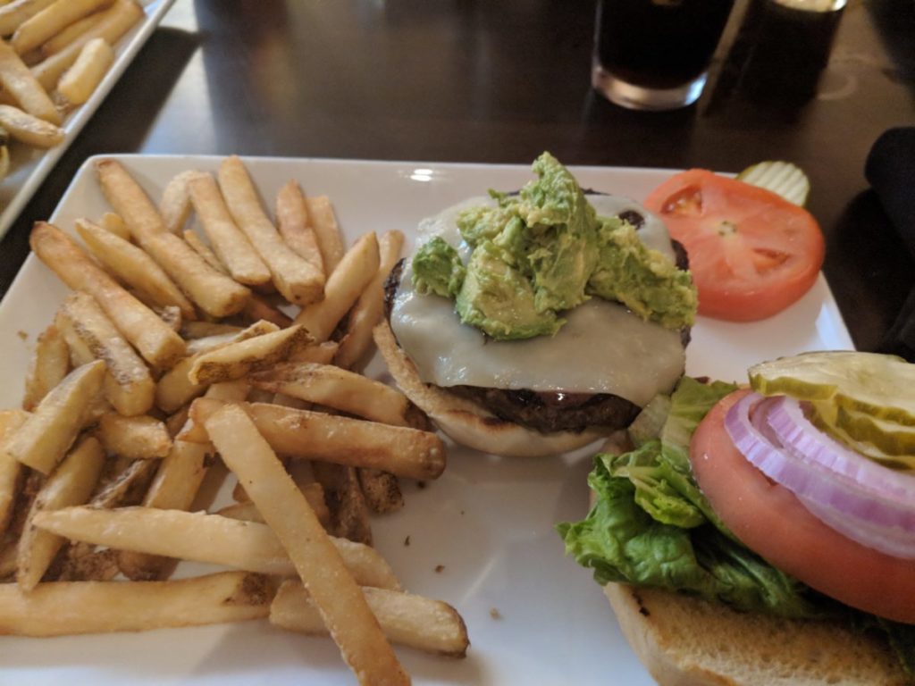
M 361 683 L 409 682 L 389 641 L 463 656 L 458 612 L 371 547 L 398 478 L 446 464 L 425 415 L 358 371 L 403 235 L 347 249 L 295 181 L 274 225 L 235 156 L 158 205 L 119 162 L 95 170 L 112 211 L 76 221 L 82 242 L 30 237 L 72 293 L 0 411 L 0 634 L 268 617 L 329 633 Z M 172 578 L 182 560 L 226 571 Z

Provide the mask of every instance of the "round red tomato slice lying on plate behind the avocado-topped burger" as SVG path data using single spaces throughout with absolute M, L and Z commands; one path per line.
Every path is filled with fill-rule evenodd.
M 810 212 L 764 188 L 690 169 L 651 191 L 645 207 L 689 253 L 701 315 L 765 319 L 805 294 L 823 265 Z

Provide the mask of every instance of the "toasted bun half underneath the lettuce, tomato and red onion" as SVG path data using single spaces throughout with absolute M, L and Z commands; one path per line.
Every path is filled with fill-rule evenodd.
M 661 686 L 903 686 L 882 638 L 828 621 L 738 613 L 699 598 L 608 584 L 631 648 Z

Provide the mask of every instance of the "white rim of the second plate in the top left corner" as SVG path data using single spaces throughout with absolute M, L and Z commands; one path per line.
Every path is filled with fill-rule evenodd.
M 10 172 L 0 181 L 0 238 L 3 238 L 19 211 L 26 206 L 41 182 L 45 180 L 60 156 L 67 152 L 67 148 L 80 134 L 82 127 L 92 118 L 92 114 L 99 109 L 99 105 L 108 96 L 108 92 L 121 78 L 127 65 L 134 59 L 136 53 L 153 30 L 158 26 L 162 16 L 175 0 L 139 0 L 143 5 L 145 17 L 133 27 L 115 48 L 115 59 L 112 68 L 105 74 L 98 88 L 92 92 L 89 100 L 67 116 L 63 123 L 63 143 L 48 150 L 30 147 L 14 142 L 10 145 Z

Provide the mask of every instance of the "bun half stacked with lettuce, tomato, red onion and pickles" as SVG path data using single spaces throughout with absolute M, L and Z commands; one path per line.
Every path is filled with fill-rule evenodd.
M 915 366 L 857 352 L 684 377 L 558 531 L 663 684 L 915 682 Z

